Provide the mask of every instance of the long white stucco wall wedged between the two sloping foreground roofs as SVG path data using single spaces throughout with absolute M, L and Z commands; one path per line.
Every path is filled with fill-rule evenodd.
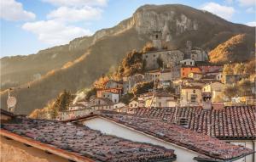
M 177 145 L 170 142 L 165 142 L 164 140 L 160 140 L 159 138 L 149 136 L 140 131 L 136 131 L 134 129 L 119 125 L 118 123 L 101 117 L 84 120 L 82 124 L 84 126 L 90 127 L 90 129 L 102 131 L 102 133 L 106 133 L 108 135 L 122 137 L 134 142 L 146 142 L 173 149 L 175 150 L 174 153 L 177 154 L 177 162 L 195 162 L 193 158 L 198 156 L 197 153 L 190 151 L 187 148 L 178 147 Z

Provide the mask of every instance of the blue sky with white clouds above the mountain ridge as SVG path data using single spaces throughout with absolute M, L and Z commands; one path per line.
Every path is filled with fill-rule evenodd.
M 143 4 L 181 3 L 256 25 L 255 0 L 0 0 L 1 58 L 37 53 L 129 18 Z

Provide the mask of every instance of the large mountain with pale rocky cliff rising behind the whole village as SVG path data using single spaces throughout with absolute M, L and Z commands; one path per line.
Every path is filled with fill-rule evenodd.
M 37 74 L 38 71 L 32 71 L 32 67 L 42 67 L 41 71 L 45 74 L 38 80 L 29 80 L 29 83 L 12 92 L 12 95 L 18 99 L 15 113 L 28 114 L 33 109 L 43 108 L 63 89 L 76 92 L 80 88 L 90 87 L 93 81 L 103 73 L 115 70 L 127 52 L 142 49 L 150 40 L 153 31 L 163 31 L 163 35 L 169 32 L 173 48 L 181 50 L 188 40 L 192 41 L 194 47 L 212 50 L 219 43 L 227 41 L 230 36 L 236 36 L 239 33 L 254 36 L 253 27 L 233 24 L 206 11 L 180 4 L 144 5 L 138 8 L 131 18 L 113 28 L 97 31 L 93 36 L 81 37 L 68 45 L 61 46 L 66 49 L 53 47 L 46 50 L 47 54 L 41 54 L 42 58 L 44 56 L 50 58 L 54 57 L 55 51 L 59 50 L 60 53 L 57 55 L 60 55 L 60 59 L 56 61 L 58 65 L 55 61 L 44 59 L 45 61 L 40 64 L 32 66 L 28 60 L 36 62 L 39 59 L 29 59 L 32 56 L 28 55 L 23 58 L 26 63 L 14 70 L 10 67 L 18 64 L 19 59 L 5 58 L 9 60 L 8 64 L 1 59 L 1 70 L 7 66 L 10 69 L 4 75 L 24 75 L 22 70 L 29 75 Z M 67 59 L 61 59 L 62 54 Z M 35 58 L 38 56 L 39 54 L 34 55 Z M 44 70 L 44 67 L 47 69 Z M 17 69 L 20 69 L 19 72 Z M 12 77 L 15 78 L 15 76 Z M 10 81 L 19 82 L 18 79 Z M 2 101 L 6 98 L 7 91 L 1 92 Z M 1 102 L 1 107 L 6 109 L 5 102 Z

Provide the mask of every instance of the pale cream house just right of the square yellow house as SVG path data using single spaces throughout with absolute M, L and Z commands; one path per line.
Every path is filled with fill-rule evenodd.
M 212 101 L 223 91 L 224 84 L 221 82 L 212 82 L 202 87 L 202 92 L 211 92 Z

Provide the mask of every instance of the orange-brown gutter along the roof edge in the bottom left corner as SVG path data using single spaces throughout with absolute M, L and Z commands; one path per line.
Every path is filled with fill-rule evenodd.
M 93 159 L 89 159 L 87 157 L 84 157 L 84 156 L 81 156 L 79 154 L 75 154 L 73 152 L 69 152 L 69 151 L 66 151 L 66 150 L 63 150 L 63 149 L 60 149 L 60 148 L 55 148 L 55 147 L 52 147 L 48 144 L 44 144 L 42 142 L 37 142 L 37 141 L 32 140 L 31 138 L 28 138 L 28 137 L 21 137 L 19 135 L 16 135 L 15 133 L 12 133 L 12 132 L 9 132 L 9 131 L 3 130 L 3 129 L 0 130 L 0 136 L 8 137 L 8 138 L 13 139 L 17 142 L 25 143 L 26 145 L 32 146 L 34 148 L 41 149 L 41 150 L 43 150 L 45 152 L 48 152 L 50 154 L 55 154 L 55 155 L 60 156 L 64 159 L 68 159 L 70 161 L 95 162 L 95 160 L 93 160 Z

